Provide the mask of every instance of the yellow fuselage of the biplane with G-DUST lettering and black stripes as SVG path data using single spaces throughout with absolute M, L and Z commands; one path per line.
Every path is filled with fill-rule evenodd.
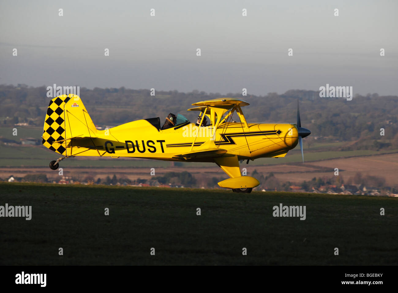
M 214 136 L 216 147 L 226 149 L 226 154 L 237 155 L 241 160 L 284 157 L 297 145 L 296 124 L 249 123 L 248 126 L 242 126 L 240 122 L 220 125 Z M 137 120 L 109 130 L 97 130 L 95 138 L 73 139 L 66 145 L 65 155 L 213 162 L 212 158 L 177 157 L 189 152 L 197 133 L 193 151 L 209 140 L 213 134 L 212 126 L 199 128 L 189 123 L 176 128 L 158 130 L 147 120 Z

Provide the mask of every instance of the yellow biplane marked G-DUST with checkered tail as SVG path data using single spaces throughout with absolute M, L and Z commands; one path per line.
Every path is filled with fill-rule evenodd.
M 97 130 L 79 96 L 53 98 L 49 104 L 42 143 L 60 153 L 50 168 L 68 157 L 135 157 L 167 161 L 213 162 L 230 177 L 220 187 L 250 193 L 259 185 L 254 177 L 242 176 L 239 161 L 261 157 L 285 157 L 310 131 L 301 127 L 297 102 L 297 124 L 248 123 L 242 112 L 249 103 L 238 98 L 217 98 L 192 104 L 199 112 L 197 123 L 183 115 L 132 121 Z M 232 120 L 236 112 L 239 122 Z M 207 118 L 209 123 L 207 123 Z M 168 127 L 166 127 L 168 124 Z M 304 161 L 304 155 L 302 155 Z

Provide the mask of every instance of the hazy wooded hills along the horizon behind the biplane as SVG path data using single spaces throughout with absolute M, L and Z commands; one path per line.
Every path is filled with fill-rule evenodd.
M 194 121 L 196 114 L 186 112 L 192 103 L 222 96 L 198 90 L 187 93 L 156 90 L 155 96 L 150 93 L 149 89 L 125 87 L 80 88 L 80 98 L 94 123 L 100 126 L 157 116 L 163 120 L 169 112 L 181 113 Z M 378 96 L 376 93 L 361 96 L 355 95 L 355 89 L 351 101 L 320 98 L 318 91 L 311 90 L 289 90 L 284 94 L 271 92 L 265 96 L 242 96 L 239 93 L 224 96 L 250 102 L 250 106 L 243 108 L 249 122 L 296 123 L 298 98 L 302 126 L 312 131 L 310 140 L 353 142 L 348 149 L 398 147 L 398 96 Z M 49 100 L 45 86 L 0 85 L 0 124 L 42 126 Z M 238 117 L 234 119 L 238 121 Z M 384 136 L 380 136 L 380 128 L 384 128 Z

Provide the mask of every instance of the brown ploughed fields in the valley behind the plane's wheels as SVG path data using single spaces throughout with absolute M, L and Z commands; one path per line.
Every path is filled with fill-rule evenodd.
M 117 159 L 114 159 L 117 160 Z M 134 160 L 131 160 L 134 161 Z M 105 179 L 107 176 L 112 177 L 113 174 L 117 178 L 126 177 L 131 180 L 150 179 L 150 169 L 155 168 L 155 175 L 162 176 L 166 172 L 183 172 L 188 171 L 198 180 L 198 186 L 207 188 L 207 182 L 212 177 L 227 178 L 227 175 L 213 163 L 184 163 L 181 166 L 171 166 L 170 162 L 165 166 L 158 166 L 158 161 L 147 160 L 139 161 L 144 167 L 133 167 L 129 165 L 129 161 L 115 161 L 113 165 L 117 167 L 73 167 L 61 163 L 64 176 L 77 177 L 80 181 L 88 175 L 92 175 L 95 179 Z M 121 164 L 123 163 L 123 164 Z M 58 171 L 51 170 L 48 164 L 43 167 L 1 167 L 0 178 L 6 178 L 10 175 L 23 177 L 27 174 L 42 173 L 46 174 L 49 179 L 60 179 Z M 290 181 L 292 183 L 301 183 L 302 181 L 310 181 L 314 177 L 333 177 L 334 168 L 339 168 L 339 176 L 346 180 L 353 177 L 357 172 L 364 175 L 381 176 L 386 179 L 387 186 L 396 186 L 396 174 L 398 173 L 398 154 L 384 154 L 367 157 L 351 157 L 343 159 L 331 159 L 310 163 L 291 163 L 280 165 L 249 165 L 243 163 L 241 168 L 247 169 L 250 175 L 254 170 L 259 174 L 268 175 L 273 173 L 281 182 Z M 255 175 L 259 176 L 259 175 Z

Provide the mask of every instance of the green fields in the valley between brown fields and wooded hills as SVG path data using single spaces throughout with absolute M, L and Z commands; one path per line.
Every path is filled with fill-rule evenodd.
M 0 127 L 0 137 L 10 140 L 20 141 L 27 137 L 34 137 L 38 140 L 41 139 L 43 130 L 41 128 L 20 127 L 18 129 L 18 136 L 12 135 L 11 127 Z M 374 151 L 374 150 L 355 150 L 355 151 L 336 151 L 336 147 L 347 144 L 347 142 L 322 142 L 311 143 L 310 147 L 306 145 L 304 139 L 304 161 L 312 162 L 326 159 L 334 159 L 341 157 L 352 156 L 366 156 L 376 155 L 381 153 L 396 153 L 398 149 Z M 47 166 L 53 159 L 57 159 L 60 155 L 50 151 L 42 145 L 39 146 L 5 146 L 0 145 L 0 167 L 41 167 Z M 261 158 L 255 161 L 250 161 L 250 165 L 277 165 L 285 163 L 299 163 L 301 162 L 300 147 L 289 151 L 284 158 Z M 167 167 L 170 162 L 145 160 L 145 159 L 132 159 L 132 158 L 99 158 L 99 157 L 75 157 L 62 162 L 67 167 Z M 203 163 L 191 163 L 193 166 L 207 166 Z

